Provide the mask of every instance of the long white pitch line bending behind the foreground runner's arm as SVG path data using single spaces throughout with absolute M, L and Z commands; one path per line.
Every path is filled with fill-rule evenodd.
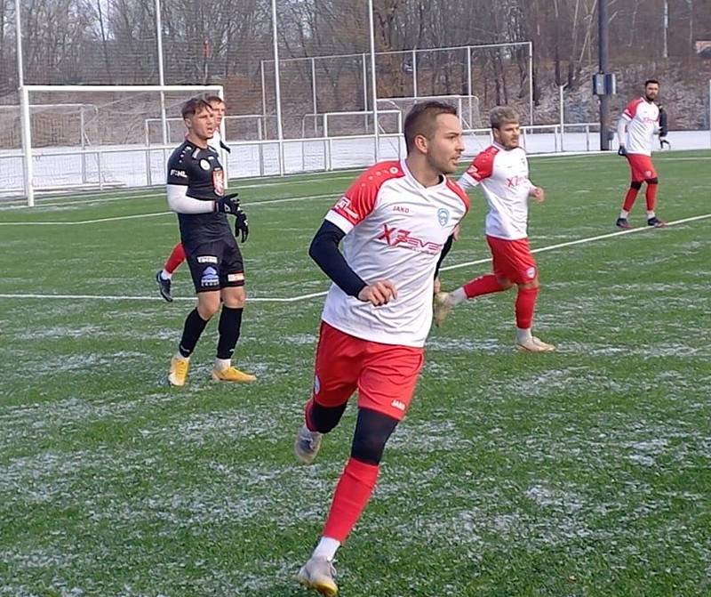
M 678 226 L 679 224 L 685 224 L 687 222 L 697 222 L 699 220 L 706 220 L 711 218 L 711 214 L 694 215 L 689 218 L 683 218 L 681 220 L 675 220 L 674 222 L 667 222 L 667 227 Z M 626 234 L 635 234 L 642 232 L 643 230 L 656 230 L 651 226 L 644 226 L 643 228 L 633 228 L 631 230 L 619 230 L 616 232 L 610 232 L 608 234 L 600 234 L 595 237 L 578 238 L 577 240 L 569 240 L 564 243 L 556 243 L 555 245 L 540 246 L 536 249 L 531 249 L 531 253 L 545 253 L 546 251 L 554 251 L 555 249 L 561 249 L 566 246 L 575 245 L 586 245 L 587 243 L 593 243 L 597 240 L 604 240 L 605 238 L 615 238 L 621 237 Z M 457 263 L 455 265 L 448 265 L 441 269 L 441 271 L 451 271 L 460 270 L 461 268 L 466 268 L 471 265 L 480 265 L 482 263 L 491 262 L 491 257 L 486 257 L 484 259 L 476 259 L 471 262 Z M 249 297 L 250 303 L 299 303 L 300 301 L 308 301 L 308 299 L 317 298 L 319 296 L 325 296 L 328 291 L 321 291 L 317 293 L 300 294 L 299 296 L 291 297 L 276 297 L 276 296 L 255 296 Z M 156 296 L 117 296 L 117 295 L 101 295 L 101 294 L 20 294 L 20 293 L 6 293 L 0 294 L 0 299 L 39 299 L 39 300 L 87 300 L 87 301 L 163 301 L 164 299 L 156 294 Z M 173 301 L 189 301 L 195 302 L 195 296 L 176 296 L 173 297 Z

